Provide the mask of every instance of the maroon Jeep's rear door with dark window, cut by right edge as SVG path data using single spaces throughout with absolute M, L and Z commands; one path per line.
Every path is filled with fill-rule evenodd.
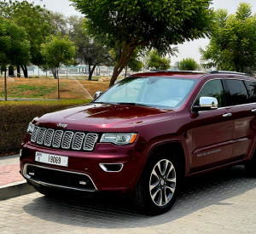
M 227 88 L 228 106 L 234 119 L 233 157 L 242 158 L 247 155 L 255 135 L 256 83 L 238 79 L 225 79 L 224 83 Z

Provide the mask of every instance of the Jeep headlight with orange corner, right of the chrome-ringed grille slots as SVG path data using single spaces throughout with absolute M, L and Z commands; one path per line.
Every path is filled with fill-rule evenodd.
M 115 145 L 127 145 L 133 143 L 136 137 L 137 134 L 102 134 L 100 141 Z

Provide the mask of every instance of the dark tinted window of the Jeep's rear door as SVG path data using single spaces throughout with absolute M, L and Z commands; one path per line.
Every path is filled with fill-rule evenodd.
M 249 102 L 247 88 L 242 81 L 226 79 L 226 83 L 229 88 L 229 106 L 236 106 Z

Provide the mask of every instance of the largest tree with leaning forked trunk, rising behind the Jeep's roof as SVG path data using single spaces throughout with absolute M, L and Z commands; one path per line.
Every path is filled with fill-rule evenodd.
M 72 0 L 86 17 L 89 35 L 117 47 L 110 86 L 138 47 L 172 54 L 172 44 L 205 37 L 212 25 L 210 0 Z

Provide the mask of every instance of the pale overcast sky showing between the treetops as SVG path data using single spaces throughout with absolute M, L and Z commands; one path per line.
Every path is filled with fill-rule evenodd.
M 19 1 L 22 2 L 22 0 Z M 28 0 L 28 2 L 41 4 L 42 7 L 45 5 L 47 9 L 61 12 L 62 14 L 68 16 L 73 14 L 79 14 L 79 12 L 70 5 L 71 2 L 69 2 L 68 0 Z M 239 3 L 250 3 L 253 6 L 253 13 L 256 13 L 256 0 L 213 0 L 212 3 L 212 7 L 214 9 L 228 9 L 230 13 L 236 12 L 236 8 Z M 197 62 L 199 62 L 201 54 L 198 50 L 200 47 L 205 49 L 208 43 L 208 39 L 199 39 L 193 42 L 187 42 L 183 43 L 182 45 L 178 45 L 179 53 L 177 54 L 177 57 L 172 57 L 172 65 L 174 65 L 176 61 L 188 57 L 194 58 L 195 60 L 197 60 Z

